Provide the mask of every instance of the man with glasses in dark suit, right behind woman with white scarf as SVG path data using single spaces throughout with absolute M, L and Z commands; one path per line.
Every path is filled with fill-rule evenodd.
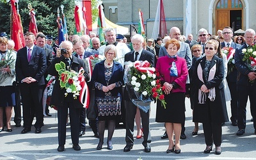
M 237 49 L 237 48 L 241 47 L 240 44 L 236 44 L 232 40 L 232 37 L 233 37 L 232 28 L 225 27 L 223 29 L 222 33 L 223 33 L 224 42 L 221 42 L 221 48 L 232 47 L 233 49 Z M 237 104 L 236 78 L 237 78 L 237 69 L 236 69 L 236 67 L 234 67 L 232 72 L 230 72 L 227 75 L 227 83 L 228 83 L 228 88 L 230 90 L 230 95 L 231 95 L 231 101 L 230 101 L 231 117 L 230 117 L 230 120 L 232 122 L 232 125 L 234 125 L 234 126 L 237 125 L 237 105 L 238 105 Z

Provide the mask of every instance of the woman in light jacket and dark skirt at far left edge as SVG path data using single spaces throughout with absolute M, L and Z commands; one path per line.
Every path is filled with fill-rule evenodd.
M 16 53 L 7 49 L 8 40 L 0 37 L 0 132 L 4 131 L 3 111 L 6 114 L 7 132 L 12 132 L 12 107 L 15 106 L 15 61 Z

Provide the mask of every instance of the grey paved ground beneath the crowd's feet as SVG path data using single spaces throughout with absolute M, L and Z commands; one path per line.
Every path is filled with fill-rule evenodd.
M 0 132 L 0 159 L 256 159 L 256 135 L 254 134 L 253 123 L 250 122 L 250 107 L 248 105 L 246 133 L 243 136 L 236 136 L 237 127 L 227 122 L 223 126 L 222 154 L 216 156 L 214 151 L 204 154 L 204 134 L 202 125 L 197 136 L 192 136 L 193 122 L 189 100 L 186 99 L 186 140 L 181 140 L 180 154 L 166 154 L 168 140 L 161 140 L 164 132 L 163 124 L 155 122 L 156 105 L 152 104 L 150 115 L 150 127 L 152 135 L 152 152 L 143 152 L 142 140 L 135 140 L 131 152 L 123 152 L 125 146 L 125 129 L 116 129 L 113 138 L 113 150 L 107 150 L 106 138 L 104 148 L 96 150 L 99 139 L 93 137 L 90 127 L 86 127 L 86 134 L 80 138 L 80 151 L 72 149 L 70 140 L 70 126 L 68 126 L 65 152 L 58 152 L 58 134 L 56 111 L 51 109 L 52 117 L 46 117 L 42 133 L 35 134 L 35 128 L 27 134 L 20 134 L 22 127 L 15 127 L 12 121 L 13 132 Z M 230 107 L 228 106 L 228 115 Z M 107 136 L 105 132 L 105 137 Z M 215 150 L 215 149 L 214 149 Z

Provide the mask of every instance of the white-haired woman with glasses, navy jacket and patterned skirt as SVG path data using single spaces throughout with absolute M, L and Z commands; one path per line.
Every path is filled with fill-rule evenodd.
M 93 69 L 92 81 L 95 85 L 95 100 L 98 107 L 99 144 L 102 149 L 104 131 L 108 122 L 108 150 L 112 150 L 112 136 L 115 131 L 116 118 L 121 115 L 121 93 L 123 85 L 123 67 L 114 61 L 117 51 L 115 45 L 108 45 L 104 50 L 106 60 L 97 63 Z

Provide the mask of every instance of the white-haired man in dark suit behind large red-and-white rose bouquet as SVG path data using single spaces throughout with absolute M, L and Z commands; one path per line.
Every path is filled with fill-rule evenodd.
M 124 61 L 145 61 L 147 60 L 150 64 L 152 64 L 152 67 L 154 67 L 154 60 L 155 56 L 152 54 L 152 52 L 146 51 L 143 49 L 143 42 L 144 38 L 143 36 L 136 34 L 132 36 L 132 47 L 134 51 L 128 52 L 125 54 Z M 125 91 L 127 94 L 127 91 Z M 127 96 L 125 96 L 124 93 L 124 99 L 127 99 Z M 134 139 L 133 139 L 133 131 L 134 131 L 134 118 L 136 115 L 136 109 L 137 106 L 135 106 L 130 99 L 127 99 L 127 107 L 126 107 L 126 135 L 125 135 L 125 141 L 126 146 L 124 147 L 124 152 L 129 152 L 132 149 L 132 146 L 134 145 Z M 140 109 L 140 115 L 141 115 L 141 122 L 143 125 L 143 142 L 142 145 L 145 148 L 145 152 L 151 152 L 151 136 L 150 136 L 150 127 L 149 127 L 149 111 L 145 113 L 145 111 Z

